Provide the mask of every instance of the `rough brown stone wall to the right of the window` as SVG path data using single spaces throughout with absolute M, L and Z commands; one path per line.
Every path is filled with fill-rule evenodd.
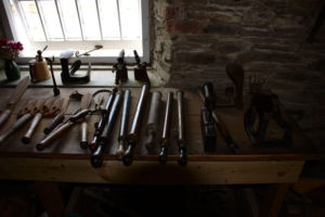
M 243 64 L 249 75 L 289 108 L 301 108 L 301 127 L 325 142 L 325 23 L 306 43 L 322 0 L 161 0 L 153 3 L 153 66 L 168 87 L 230 82 L 225 65 Z M 324 145 L 325 146 L 325 145 Z

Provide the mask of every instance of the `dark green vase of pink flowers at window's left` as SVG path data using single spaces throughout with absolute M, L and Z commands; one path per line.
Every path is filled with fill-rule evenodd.
M 21 71 L 15 59 L 22 50 L 24 48 L 20 41 L 10 41 L 6 38 L 0 40 L 0 56 L 4 60 L 4 72 L 8 80 L 21 78 Z

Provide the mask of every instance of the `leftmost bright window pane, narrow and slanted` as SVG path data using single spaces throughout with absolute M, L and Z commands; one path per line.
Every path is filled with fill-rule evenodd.
M 24 15 L 34 41 L 46 41 L 44 31 L 39 20 L 37 8 L 34 1 L 21 1 Z

